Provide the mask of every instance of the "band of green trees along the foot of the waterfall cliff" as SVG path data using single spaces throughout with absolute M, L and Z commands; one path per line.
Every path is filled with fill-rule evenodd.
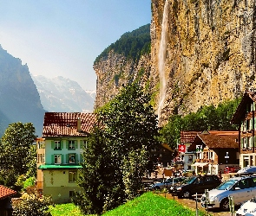
M 237 125 L 230 123 L 240 98 L 225 101 L 216 107 L 213 105 L 202 106 L 198 111 L 181 117 L 173 115 L 168 123 L 160 130 L 160 140 L 176 148 L 180 142 L 181 130 L 203 131 L 203 130 L 237 130 Z

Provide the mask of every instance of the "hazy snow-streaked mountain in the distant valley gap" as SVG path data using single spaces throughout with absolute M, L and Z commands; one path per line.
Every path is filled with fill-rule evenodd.
M 53 79 L 42 75 L 32 75 L 43 108 L 47 111 L 94 110 L 95 91 L 85 91 L 75 81 L 57 76 Z

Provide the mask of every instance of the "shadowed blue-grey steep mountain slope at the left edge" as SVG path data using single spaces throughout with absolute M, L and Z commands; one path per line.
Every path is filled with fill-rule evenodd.
M 44 112 L 28 66 L 0 46 L 0 136 L 16 122 L 34 124 L 41 136 Z

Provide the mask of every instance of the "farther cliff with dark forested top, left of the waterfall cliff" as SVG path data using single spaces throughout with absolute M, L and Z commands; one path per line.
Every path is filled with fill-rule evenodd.
M 139 80 L 148 84 L 151 70 L 150 26 L 145 25 L 121 36 L 95 60 L 97 75 L 95 109 L 105 105 L 122 86 Z M 137 57 L 137 56 L 140 57 Z

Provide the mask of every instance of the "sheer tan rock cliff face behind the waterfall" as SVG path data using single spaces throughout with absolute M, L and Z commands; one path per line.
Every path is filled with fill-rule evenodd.
M 161 73 L 158 54 L 166 3 L 162 124 L 173 112 L 186 114 L 201 105 L 218 105 L 256 86 L 256 10 L 251 0 L 152 0 L 154 84 Z

